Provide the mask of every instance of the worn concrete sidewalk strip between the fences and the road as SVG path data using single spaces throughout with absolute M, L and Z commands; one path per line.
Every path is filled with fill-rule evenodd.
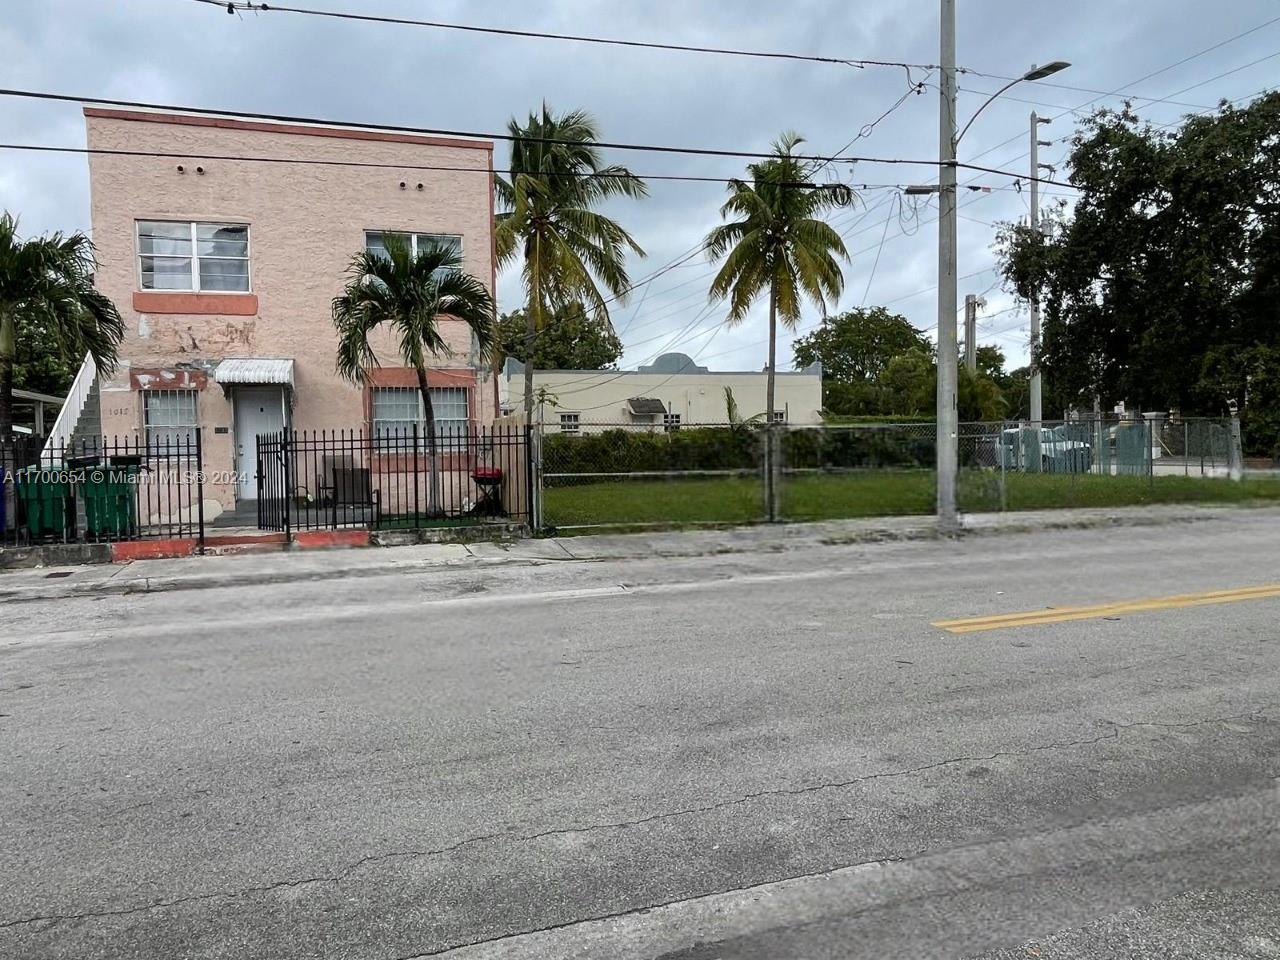
M 978 515 L 965 520 L 964 529 L 954 539 L 970 536 L 997 536 L 1041 531 L 1098 530 L 1107 527 L 1166 526 L 1222 520 L 1238 515 L 1239 507 L 1213 507 L 1211 509 L 1156 509 L 1089 512 L 1064 515 L 1064 511 L 1044 511 L 1036 515 Z M 1274 512 L 1280 517 L 1280 512 Z M 257 584 L 287 584 L 340 579 L 369 579 L 397 573 L 424 573 L 442 567 L 468 566 L 539 566 L 545 563 L 591 563 L 626 559 L 677 559 L 714 557 L 735 553 L 786 553 L 806 547 L 841 547 L 872 543 L 905 543 L 941 539 L 937 526 L 927 517 L 886 517 L 879 520 L 827 521 L 794 524 L 774 527 L 737 527 L 731 530 L 700 531 L 696 534 L 667 532 L 662 535 L 625 534 L 611 536 L 584 536 L 545 540 L 517 540 L 509 543 L 474 543 L 438 545 L 436 556 L 408 559 L 397 557 L 398 549 L 347 550 L 326 553 L 330 563 L 323 567 L 291 568 L 287 554 L 279 554 L 268 570 L 219 570 L 180 573 L 156 571 L 146 576 L 147 567 L 164 561 L 140 561 L 115 566 L 110 572 L 91 568 L 106 576 L 82 582 L 58 581 L 20 584 L 4 589 L 0 580 L 0 600 L 24 602 L 73 596 L 124 596 L 129 594 L 166 593 L 174 590 L 211 590 L 218 588 L 253 586 Z M 410 549 L 410 548 L 406 548 Z M 385 562 L 369 563 L 380 554 Z M 312 554 L 314 556 L 314 554 Z M 344 558 L 358 557 L 357 562 Z M 251 559 L 244 557 L 243 559 Z M 184 561 L 200 564 L 201 558 Z M 232 563 L 239 559 L 230 559 Z M 20 576 L 20 573 L 17 573 Z M 49 576 L 47 573 L 41 576 Z

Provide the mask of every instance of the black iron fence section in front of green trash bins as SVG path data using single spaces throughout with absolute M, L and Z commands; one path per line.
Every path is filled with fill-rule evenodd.
M 0 440 L 0 543 L 193 538 L 204 544 L 200 431 Z

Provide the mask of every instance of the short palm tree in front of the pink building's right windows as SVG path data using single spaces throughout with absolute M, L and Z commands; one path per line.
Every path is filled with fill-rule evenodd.
M 385 255 L 366 250 L 352 257 L 346 289 L 333 300 L 338 372 L 352 383 L 366 384 L 379 365 L 370 334 L 384 325 L 396 333 L 401 358 L 413 367 L 422 394 L 430 506 L 435 512 L 439 506 L 435 410 L 426 383 L 426 360 L 449 353 L 439 328 L 442 317 L 462 320 L 475 334 L 480 358 L 490 357 L 497 329 L 494 302 L 480 280 L 462 273 L 462 260 L 451 247 L 428 243 L 419 247 L 415 257 L 403 238 L 387 234 L 383 239 Z

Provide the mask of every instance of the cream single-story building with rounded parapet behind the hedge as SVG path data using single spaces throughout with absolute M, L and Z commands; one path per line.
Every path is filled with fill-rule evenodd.
M 616 425 L 728 424 L 732 398 L 737 417 L 763 420 L 767 380 L 760 370 L 708 370 L 684 353 L 664 353 L 637 370 L 535 370 L 535 419 L 564 433 Z M 518 360 L 507 360 L 499 403 L 503 412 L 524 408 L 525 365 Z M 820 424 L 822 366 L 780 371 L 774 407 L 777 422 Z

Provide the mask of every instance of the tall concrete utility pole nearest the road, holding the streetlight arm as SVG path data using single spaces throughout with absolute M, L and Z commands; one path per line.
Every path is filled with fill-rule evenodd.
M 941 0 L 938 64 L 938 530 L 954 532 L 956 513 L 956 0 Z

